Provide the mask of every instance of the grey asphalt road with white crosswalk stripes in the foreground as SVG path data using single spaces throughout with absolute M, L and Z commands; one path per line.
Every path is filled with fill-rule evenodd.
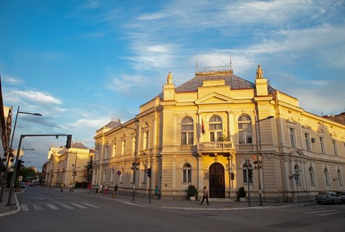
M 345 229 L 345 205 L 233 210 L 204 206 L 185 210 L 42 187 L 28 187 L 17 197 L 22 212 L 0 217 L 1 231 L 335 232 Z

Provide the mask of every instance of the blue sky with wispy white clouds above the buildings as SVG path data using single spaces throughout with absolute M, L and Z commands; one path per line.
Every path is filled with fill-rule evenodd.
M 93 148 L 95 131 L 127 121 L 198 65 L 228 65 L 316 115 L 345 111 L 344 1 L 0 1 L 0 74 L 20 134 L 73 134 Z M 15 110 L 16 111 L 16 110 Z M 24 160 L 42 167 L 50 144 L 25 138 Z

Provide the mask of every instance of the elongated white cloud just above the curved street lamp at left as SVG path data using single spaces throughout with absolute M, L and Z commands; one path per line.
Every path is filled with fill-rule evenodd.
M 13 90 L 12 94 L 19 99 L 24 99 L 26 101 L 33 101 L 36 103 L 44 103 L 44 104 L 62 104 L 62 101 L 52 97 L 50 94 L 46 94 L 44 92 L 38 92 L 34 90 Z

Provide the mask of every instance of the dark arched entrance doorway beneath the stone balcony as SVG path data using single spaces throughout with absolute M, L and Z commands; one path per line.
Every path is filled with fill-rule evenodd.
M 225 198 L 224 167 L 220 163 L 209 167 L 209 197 Z

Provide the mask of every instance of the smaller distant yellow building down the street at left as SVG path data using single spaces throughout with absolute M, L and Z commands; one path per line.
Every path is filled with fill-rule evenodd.
M 87 168 L 93 150 L 88 149 L 81 142 L 74 142 L 70 149 L 51 146 L 48 161 L 45 163 L 45 185 L 49 187 L 67 186 L 75 182 L 88 182 Z

